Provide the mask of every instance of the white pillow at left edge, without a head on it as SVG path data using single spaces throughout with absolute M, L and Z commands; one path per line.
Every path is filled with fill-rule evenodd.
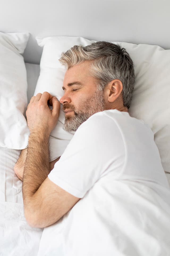
M 0 32 L 0 147 L 28 145 L 27 76 L 21 55 L 28 38 L 29 33 Z

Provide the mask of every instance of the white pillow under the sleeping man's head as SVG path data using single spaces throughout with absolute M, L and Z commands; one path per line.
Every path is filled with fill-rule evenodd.
M 66 67 L 58 61 L 61 53 L 74 45 L 86 46 L 97 41 L 83 37 L 36 37 L 36 40 L 38 45 L 44 48 L 34 95 L 48 91 L 60 100 L 64 94 L 61 87 L 66 72 Z M 131 117 L 142 119 L 152 129 L 163 168 L 170 172 L 170 50 L 155 45 L 112 43 L 125 47 L 134 62 L 135 88 L 129 114 Z M 63 153 L 74 134 L 63 130 L 64 119 L 64 112 L 60 109 L 59 122 L 51 133 L 53 141 L 50 141 L 53 156 L 57 152 L 56 158 Z

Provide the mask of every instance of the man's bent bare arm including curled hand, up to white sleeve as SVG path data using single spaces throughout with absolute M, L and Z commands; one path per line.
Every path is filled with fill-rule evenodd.
M 47 102 L 53 106 L 52 110 L 49 109 Z M 80 199 L 48 178 L 49 136 L 57 124 L 59 113 L 60 102 L 48 92 L 33 96 L 26 111 L 30 136 L 22 192 L 25 218 L 33 227 L 53 224 Z

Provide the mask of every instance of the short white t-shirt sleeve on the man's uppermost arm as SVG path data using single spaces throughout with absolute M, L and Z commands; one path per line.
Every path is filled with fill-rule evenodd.
M 48 178 L 83 198 L 117 154 L 122 154 L 122 147 L 122 136 L 113 119 L 96 113 L 79 126 Z

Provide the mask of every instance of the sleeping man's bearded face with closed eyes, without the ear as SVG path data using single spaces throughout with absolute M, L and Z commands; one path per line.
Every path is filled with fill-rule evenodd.
M 71 67 L 65 73 L 63 81 L 65 93 L 60 103 L 63 104 L 64 111 L 71 110 L 65 113 L 64 129 L 66 131 L 76 131 L 91 115 L 105 109 L 103 91 L 96 91 L 96 79 L 89 76 L 89 67 L 90 62 L 85 61 Z M 69 86 L 73 82 L 79 82 L 81 85 Z

